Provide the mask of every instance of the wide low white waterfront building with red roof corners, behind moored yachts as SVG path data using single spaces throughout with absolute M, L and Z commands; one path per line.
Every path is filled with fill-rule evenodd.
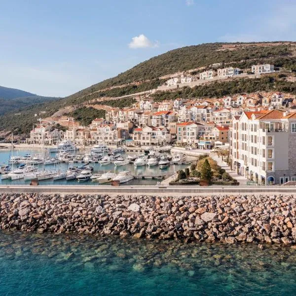
M 145 126 L 135 128 L 132 134 L 134 143 L 138 146 L 159 146 L 170 144 L 171 134 L 165 127 Z

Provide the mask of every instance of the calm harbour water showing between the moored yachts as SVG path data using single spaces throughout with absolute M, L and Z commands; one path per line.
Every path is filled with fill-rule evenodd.
M 41 150 L 37 149 L 18 149 L 14 151 L 14 155 L 19 155 L 23 156 L 27 153 L 30 153 L 32 155 L 36 153 L 41 153 Z M 0 150 L 0 163 L 8 163 L 9 160 L 9 150 Z M 54 153 L 52 153 L 52 156 L 54 156 Z M 71 163 L 69 166 L 81 166 L 83 165 L 82 163 Z M 112 172 L 115 174 L 118 174 L 121 171 L 130 171 L 133 175 L 146 175 L 146 176 L 156 176 L 156 175 L 162 175 L 162 174 L 170 174 L 170 173 L 175 173 L 178 170 L 185 169 L 188 165 L 170 165 L 166 169 L 159 169 L 158 166 L 154 167 L 147 167 L 147 166 L 142 166 L 142 167 L 135 167 L 133 163 L 125 165 L 125 166 L 119 166 L 116 167 L 114 164 L 109 164 L 109 165 L 104 165 L 101 166 L 99 163 L 92 163 L 90 164 L 91 166 L 94 167 L 94 173 L 97 174 L 103 174 L 106 172 Z M 36 165 L 37 166 L 37 165 Z M 41 169 L 43 169 L 43 165 L 37 166 Z M 59 163 L 58 165 L 46 165 L 45 169 L 51 170 L 51 169 L 56 169 L 56 170 L 61 170 L 61 171 L 66 171 L 68 167 L 67 163 Z M 125 183 L 124 185 L 155 185 L 158 181 L 161 180 L 142 180 L 142 179 L 134 179 L 130 182 Z M 10 185 L 10 184 L 30 184 L 30 181 L 24 181 L 24 179 L 21 180 L 0 180 L 0 184 L 4 185 Z M 53 181 L 52 179 L 49 180 L 43 180 L 39 182 L 40 185 L 49 185 L 49 184 L 56 184 L 56 185 L 98 185 L 98 183 L 94 182 L 83 182 L 83 183 L 78 183 L 76 180 L 71 180 L 71 181 L 66 181 L 66 180 L 57 180 Z M 105 184 L 106 185 L 106 184 Z

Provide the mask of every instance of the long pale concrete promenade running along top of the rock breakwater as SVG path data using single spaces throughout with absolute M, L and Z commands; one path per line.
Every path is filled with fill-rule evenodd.
M 196 194 L 295 194 L 296 186 L 198 186 L 198 185 L 136 185 L 136 186 L 104 186 L 104 185 L 10 185 L 0 186 L 0 193 L 81 193 L 81 194 L 143 194 L 143 195 L 168 195 L 190 196 Z

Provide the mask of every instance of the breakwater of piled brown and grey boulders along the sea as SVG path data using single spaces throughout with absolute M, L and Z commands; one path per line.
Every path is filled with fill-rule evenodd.
M 296 195 L 2 194 L 0 229 L 295 244 Z

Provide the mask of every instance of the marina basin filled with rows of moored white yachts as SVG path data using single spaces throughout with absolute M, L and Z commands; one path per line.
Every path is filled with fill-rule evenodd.
M 0 185 L 156 185 L 190 164 L 184 157 L 154 150 L 136 154 L 103 145 L 77 150 L 67 143 L 65 147 L 71 150 L 2 149 Z M 159 164 L 162 158 L 165 165 Z M 109 178 L 102 178 L 106 174 Z

